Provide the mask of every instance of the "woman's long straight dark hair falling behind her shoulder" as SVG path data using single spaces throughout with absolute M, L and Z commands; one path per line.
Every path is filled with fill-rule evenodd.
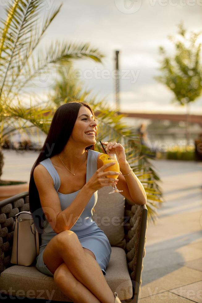
M 45 228 L 45 226 L 43 226 L 45 215 L 41 207 L 39 192 L 34 181 L 34 169 L 41 161 L 53 157 L 63 150 L 72 133 L 74 124 L 78 117 L 79 109 L 82 105 L 90 109 L 95 119 L 93 110 L 90 108 L 90 105 L 85 102 L 72 101 L 59 106 L 54 113 L 50 129 L 41 152 L 32 166 L 29 181 L 29 207 L 36 229 L 39 233 L 43 233 L 43 229 Z M 86 150 L 87 149 L 94 150 L 94 145 L 86 147 Z

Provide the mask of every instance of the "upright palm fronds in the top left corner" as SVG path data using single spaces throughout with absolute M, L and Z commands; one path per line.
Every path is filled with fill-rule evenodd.
M 12 16 L 12 19 L 10 18 L 11 21 L 9 23 L 4 23 L 4 29 L 2 30 L 4 48 L 2 45 L 0 52 L 0 76 L 2 78 L 0 96 L 7 76 L 10 78 L 9 75 L 11 76 L 11 71 L 14 70 L 13 73 L 15 76 L 12 77 L 12 81 L 8 79 L 8 83 L 10 84 L 8 94 L 11 92 L 14 82 L 23 70 L 25 62 L 27 62 L 33 49 L 38 45 L 42 34 L 60 10 L 61 5 L 53 11 L 53 13 L 48 15 L 43 25 L 42 32 L 37 36 L 37 39 L 32 41 L 36 27 L 39 28 L 37 17 L 42 12 L 43 2 L 44 0 L 21 0 L 17 3 L 14 1 L 13 5 L 8 4 L 6 6 L 5 10 L 8 16 Z M 2 52 L 4 53 L 4 56 L 1 56 Z

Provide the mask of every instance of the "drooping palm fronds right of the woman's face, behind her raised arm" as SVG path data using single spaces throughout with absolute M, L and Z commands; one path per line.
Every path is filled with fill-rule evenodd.
M 158 186 L 160 181 L 159 176 L 153 168 L 153 164 L 149 162 L 143 152 L 149 155 L 148 147 L 142 149 L 141 142 L 132 127 L 129 127 L 121 122 L 124 115 L 116 115 L 116 112 L 111 110 L 107 103 L 101 100 L 99 103 L 91 103 L 94 112 L 99 112 L 97 115 L 99 133 L 101 141 L 116 141 L 120 142 L 125 149 L 126 158 L 133 172 L 138 179 L 144 184 L 147 194 L 148 218 L 155 222 L 157 219 L 157 209 L 163 203 L 162 189 Z M 99 152 L 103 152 L 102 148 L 96 144 Z M 136 164 L 137 163 L 137 164 Z M 145 186 L 147 185 L 147 186 Z

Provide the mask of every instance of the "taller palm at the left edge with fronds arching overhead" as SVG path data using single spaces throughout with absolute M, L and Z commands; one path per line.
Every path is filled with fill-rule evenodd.
M 1 19 L 0 27 L 0 177 L 2 174 L 3 155 L 2 143 L 10 124 L 11 131 L 20 129 L 15 117 L 16 103 L 21 107 L 22 95 L 26 87 L 36 79 L 39 72 L 45 67 L 57 69 L 60 62 L 71 62 L 73 59 L 90 58 L 95 62 L 102 62 L 104 55 L 98 49 L 92 48 L 89 43 L 52 42 L 45 52 L 37 50 L 40 41 L 53 19 L 61 9 L 61 5 L 50 11 L 40 23 L 39 16 L 44 15 L 45 0 L 13 0 L 4 6 L 6 19 Z M 26 94 L 25 94 L 26 96 Z M 31 96 L 30 98 L 31 104 Z M 32 106 L 30 106 L 32 107 Z M 33 109 L 30 121 L 36 119 L 36 112 L 41 108 Z M 44 111 L 44 109 L 43 109 Z M 20 114 L 20 113 L 19 113 Z M 13 125 L 15 120 L 15 125 Z M 40 122 L 34 122 L 37 125 Z M 41 125 L 40 125 L 41 126 Z M 44 126 L 45 127 L 45 126 Z M 45 127 L 46 128 L 46 127 Z M 9 130 L 10 132 L 10 130 Z

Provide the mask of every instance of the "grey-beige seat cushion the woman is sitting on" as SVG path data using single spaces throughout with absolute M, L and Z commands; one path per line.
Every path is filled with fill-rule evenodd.
M 122 248 L 112 247 L 105 279 L 112 291 L 118 293 L 120 300 L 132 297 L 132 282 L 128 273 L 126 254 Z M 35 264 L 13 265 L 6 268 L 0 275 L 0 285 L 1 293 L 12 296 L 72 302 L 56 286 L 53 277 L 38 271 Z

